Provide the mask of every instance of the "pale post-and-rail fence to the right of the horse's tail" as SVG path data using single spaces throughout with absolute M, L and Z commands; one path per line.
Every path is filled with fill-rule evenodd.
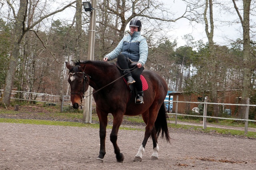
M 244 134 L 248 133 L 248 121 L 256 122 L 256 120 L 250 120 L 248 119 L 249 117 L 249 107 L 250 106 L 256 106 L 256 105 L 251 105 L 250 99 L 248 98 L 246 100 L 246 104 L 224 104 L 224 103 L 208 103 L 208 98 L 204 98 L 204 102 L 183 102 L 183 101 L 178 101 L 178 96 L 176 97 L 176 101 L 170 101 L 169 103 L 176 102 L 176 108 L 175 108 L 175 113 L 168 113 L 170 115 L 175 115 L 175 124 L 177 124 L 177 117 L 178 115 L 183 115 L 183 116 L 194 116 L 194 117 L 203 117 L 203 128 L 206 129 L 206 118 L 215 118 L 215 119 L 230 119 L 230 120 L 240 120 L 240 121 L 245 121 L 244 123 Z M 196 103 L 196 104 L 204 104 L 204 113 L 203 115 L 188 115 L 188 114 L 180 114 L 178 113 L 178 103 Z M 237 119 L 237 118 L 229 118 L 229 117 L 213 117 L 213 116 L 207 116 L 207 105 L 208 104 L 217 104 L 217 105 L 236 105 L 236 106 L 246 106 L 246 113 L 245 113 L 245 119 Z

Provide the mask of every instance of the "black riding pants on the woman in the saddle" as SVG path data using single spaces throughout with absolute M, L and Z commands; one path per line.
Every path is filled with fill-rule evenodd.
M 132 78 L 134 78 L 135 80 L 134 86 L 138 92 L 142 92 L 142 82 L 140 80 L 140 74 L 144 70 L 144 67 L 140 67 L 140 68 L 138 68 L 137 66 L 134 67 L 134 64 L 131 65 L 130 60 L 127 59 L 122 54 L 118 55 L 117 63 L 119 64 L 122 70 L 131 69 L 130 71 L 132 73 Z

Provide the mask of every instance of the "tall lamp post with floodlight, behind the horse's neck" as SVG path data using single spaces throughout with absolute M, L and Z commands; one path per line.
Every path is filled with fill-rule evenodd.
M 95 44 L 95 25 L 96 25 L 96 0 L 90 2 L 83 2 L 84 10 L 90 11 L 90 28 L 89 28 L 89 41 L 88 41 L 88 60 L 94 60 L 94 44 Z M 94 8 L 92 8 L 92 6 Z M 92 94 L 92 87 L 89 86 L 85 96 Z M 92 122 L 92 95 L 84 99 L 83 122 Z

